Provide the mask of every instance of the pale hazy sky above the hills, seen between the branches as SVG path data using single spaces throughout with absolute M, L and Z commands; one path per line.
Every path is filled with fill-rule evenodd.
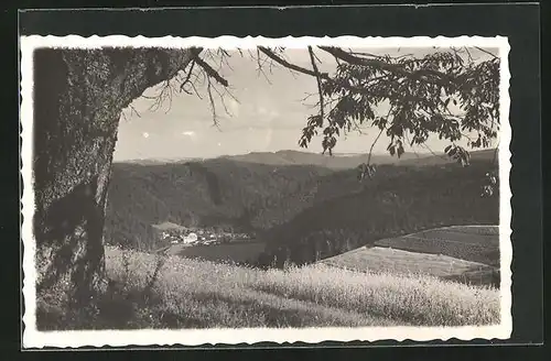
M 359 50 L 358 50 L 359 51 Z M 424 55 L 428 48 L 392 48 L 363 52 L 377 54 L 415 54 Z M 322 61 L 322 70 L 335 68 L 335 62 L 324 52 L 317 52 Z M 475 58 L 483 59 L 483 52 L 473 50 Z M 497 52 L 494 51 L 497 54 Z M 302 74 L 291 74 L 283 67 L 273 67 L 266 77 L 257 72 L 257 62 L 245 51 L 231 52 L 228 65 L 224 65 L 220 74 L 229 81 L 231 92 L 238 102 L 226 97 L 230 116 L 225 113 L 223 105 L 217 102 L 219 127 L 213 125 L 213 114 L 206 87 L 198 87 L 205 96 L 199 99 L 185 92 L 176 94 L 169 109 L 166 102 L 161 109 L 150 110 L 153 100 L 139 98 L 132 102 L 138 111 L 125 110 L 119 127 L 119 136 L 115 152 L 115 161 L 136 158 L 187 158 L 214 157 L 226 154 L 244 154 L 248 152 L 301 150 L 298 145 L 301 130 L 310 114 L 317 112 L 309 105 L 316 101 L 313 97 L 302 100 L 307 94 L 316 91 L 316 80 Z M 256 52 L 255 52 L 256 55 Z M 298 65 L 311 68 L 306 50 L 288 50 L 287 58 Z M 215 68 L 218 66 L 208 57 L 205 58 Z M 218 86 L 222 90 L 223 88 Z M 153 87 L 145 96 L 158 94 Z M 216 94 L 215 98 L 217 98 Z M 385 112 L 385 106 L 378 112 Z M 341 136 L 335 147 L 336 153 L 367 153 L 377 132 L 366 129 L 364 134 L 349 133 Z M 429 146 L 441 152 L 446 142 L 431 139 Z M 386 152 L 388 140 L 381 136 L 374 147 L 374 153 Z M 314 139 L 309 146 L 310 152 L 321 152 L 321 138 Z M 408 149 L 406 150 L 408 151 Z M 426 152 L 423 147 L 417 152 Z

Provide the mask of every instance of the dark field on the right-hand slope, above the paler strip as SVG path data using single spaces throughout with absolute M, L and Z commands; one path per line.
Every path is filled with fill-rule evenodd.
M 410 252 L 442 254 L 469 262 L 499 266 L 498 226 L 461 226 L 439 228 L 375 242 Z

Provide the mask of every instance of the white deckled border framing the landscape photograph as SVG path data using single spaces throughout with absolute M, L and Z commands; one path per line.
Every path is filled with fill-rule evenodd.
M 37 47 L 73 47 L 97 48 L 104 46 L 133 46 L 133 47 L 224 47 L 224 48 L 251 48 L 258 45 L 285 46 L 288 48 L 304 48 L 307 45 L 335 45 L 342 47 L 429 47 L 429 46 L 491 46 L 499 48 L 501 59 L 500 68 L 500 119 L 499 134 L 499 177 L 500 177 L 500 264 L 501 264 L 501 324 L 484 327 L 358 327 L 358 328 L 251 328 L 251 329 L 182 329 L 182 330 L 100 330 L 100 331 L 48 331 L 36 330 L 35 327 L 35 242 L 32 231 L 32 217 L 34 214 L 34 190 L 32 178 L 32 139 L 33 139 L 33 51 Z M 511 128 L 509 123 L 509 43 L 507 37 L 234 37 L 220 36 L 205 37 L 144 37 L 144 36 L 22 36 L 21 50 L 21 128 L 22 128 L 22 169 L 23 197 L 22 197 L 22 239 L 23 253 L 23 295 L 25 313 L 23 316 L 24 348 L 43 347 L 123 347 L 123 346 L 201 346 L 201 344 L 237 344 L 256 342 L 309 342 L 322 341 L 377 341 L 377 340 L 460 340 L 473 339 L 508 339 L 512 331 L 511 316 L 511 190 L 509 185 Z

